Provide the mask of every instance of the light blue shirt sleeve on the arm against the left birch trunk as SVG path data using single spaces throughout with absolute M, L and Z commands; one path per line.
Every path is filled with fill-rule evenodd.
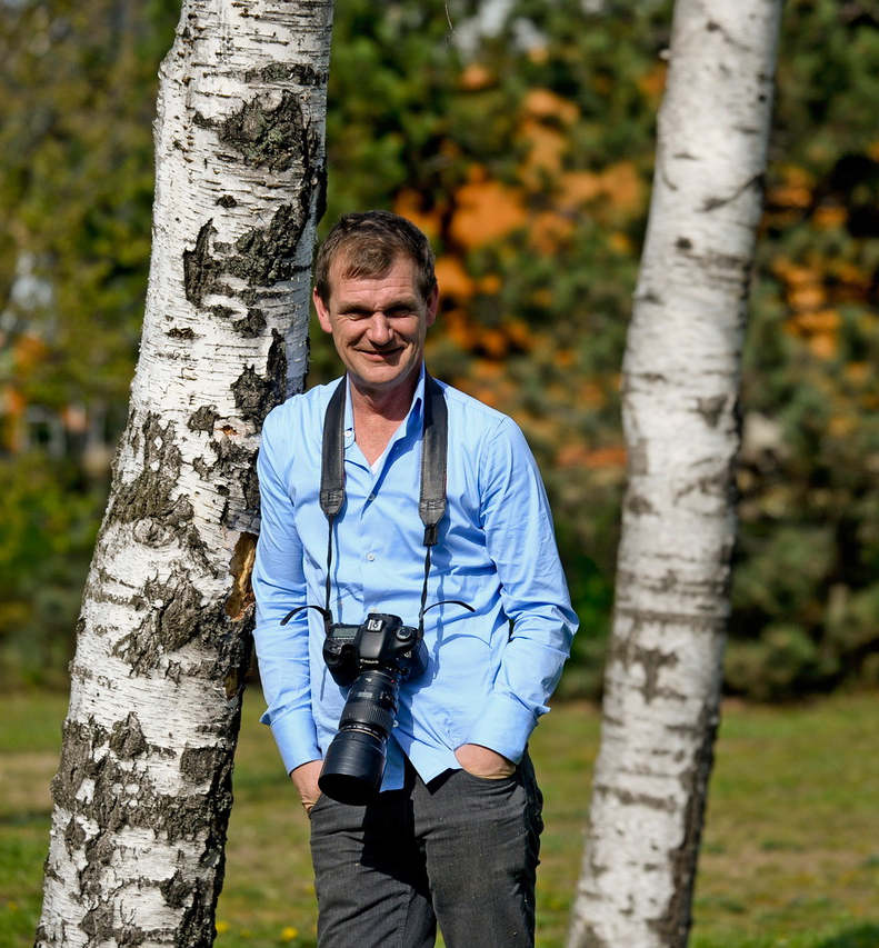
M 300 764 L 319 759 L 321 752 L 311 712 L 308 613 L 303 610 L 281 625 L 291 609 L 307 600 L 302 542 L 282 477 L 292 462 L 292 451 L 273 415 L 266 419 L 257 460 L 261 526 L 253 567 L 253 638 L 268 706 L 260 720 L 271 727 L 289 774 Z

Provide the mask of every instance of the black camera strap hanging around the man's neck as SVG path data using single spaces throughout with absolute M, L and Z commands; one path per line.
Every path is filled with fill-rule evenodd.
M 348 377 L 339 382 L 323 416 L 323 446 L 320 469 L 320 509 L 329 525 L 327 545 L 327 605 L 330 611 L 332 526 L 344 503 L 344 401 Z M 424 399 L 421 438 L 421 490 L 418 513 L 424 525 L 424 582 L 421 587 L 421 608 L 418 613 L 419 629 L 423 632 L 424 606 L 430 576 L 430 548 L 439 538 L 439 523 L 446 513 L 446 456 L 449 441 L 448 411 L 440 386 L 424 371 Z M 438 603 L 437 603 L 438 605 Z M 461 603 L 465 605 L 465 603 Z M 467 607 L 469 608 L 469 607 Z

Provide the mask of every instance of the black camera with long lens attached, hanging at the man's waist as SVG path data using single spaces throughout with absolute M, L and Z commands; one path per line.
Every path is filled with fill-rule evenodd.
M 399 616 L 370 612 L 359 626 L 328 626 L 323 660 L 333 681 L 350 690 L 318 786 L 333 800 L 363 806 L 381 787 L 400 681 L 423 675 L 427 648 L 420 629 Z

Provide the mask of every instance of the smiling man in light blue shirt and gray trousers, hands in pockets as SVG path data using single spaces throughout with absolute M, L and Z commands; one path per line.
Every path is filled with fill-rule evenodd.
M 322 660 L 319 611 L 281 619 L 327 596 L 337 622 L 384 612 L 417 625 L 422 357 L 438 307 L 430 246 L 396 214 L 348 214 L 320 248 L 313 296 L 346 377 L 266 419 L 253 586 L 262 720 L 310 815 L 319 945 L 421 948 L 437 920 L 449 948 L 533 945 L 542 800 L 526 746 L 577 628 L 540 476 L 509 418 L 439 383 L 447 510 L 424 601 L 445 605 L 423 617 L 428 668 L 401 685 L 376 800 L 321 796 L 347 689 Z M 338 385 L 346 501 L 329 565 L 319 488 Z

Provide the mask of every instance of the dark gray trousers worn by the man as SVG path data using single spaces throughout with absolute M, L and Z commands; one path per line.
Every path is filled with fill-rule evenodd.
M 542 796 L 526 754 L 512 777 L 447 770 L 367 807 L 318 799 L 311 858 L 319 948 L 530 948 Z

